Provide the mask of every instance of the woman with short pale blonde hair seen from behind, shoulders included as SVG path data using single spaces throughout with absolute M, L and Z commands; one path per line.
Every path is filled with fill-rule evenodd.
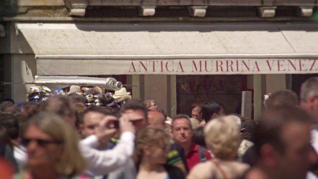
M 215 158 L 196 165 L 187 179 L 236 179 L 249 168 L 236 161 L 241 142 L 237 118 L 217 117 L 205 126 L 205 142 Z

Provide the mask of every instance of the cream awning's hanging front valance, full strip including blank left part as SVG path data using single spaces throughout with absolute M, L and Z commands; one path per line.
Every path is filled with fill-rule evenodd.
M 310 74 L 318 73 L 318 62 L 308 59 L 37 59 L 37 72 L 37 75 Z

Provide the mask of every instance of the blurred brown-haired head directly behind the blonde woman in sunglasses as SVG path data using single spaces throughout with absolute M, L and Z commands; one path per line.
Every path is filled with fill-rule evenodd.
M 40 103 L 39 111 L 56 113 L 75 126 L 76 115 L 73 103 L 67 96 L 51 96 L 48 100 Z

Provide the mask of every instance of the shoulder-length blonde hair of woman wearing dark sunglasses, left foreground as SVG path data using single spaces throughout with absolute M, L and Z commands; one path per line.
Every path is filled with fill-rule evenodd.
M 73 177 L 85 169 L 84 159 L 79 151 L 79 138 L 71 124 L 61 116 L 51 112 L 41 112 L 33 116 L 28 126 L 34 125 L 64 145 L 64 152 L 55 169 L 59 175 Z

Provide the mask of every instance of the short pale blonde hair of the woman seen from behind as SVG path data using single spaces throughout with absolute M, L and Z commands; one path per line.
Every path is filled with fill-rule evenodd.
M 237 118 L 235 115 L 217 117 L 204 128 L 206 145 L 219 159 L 231 159 L 237 155 L 241 143 Z

